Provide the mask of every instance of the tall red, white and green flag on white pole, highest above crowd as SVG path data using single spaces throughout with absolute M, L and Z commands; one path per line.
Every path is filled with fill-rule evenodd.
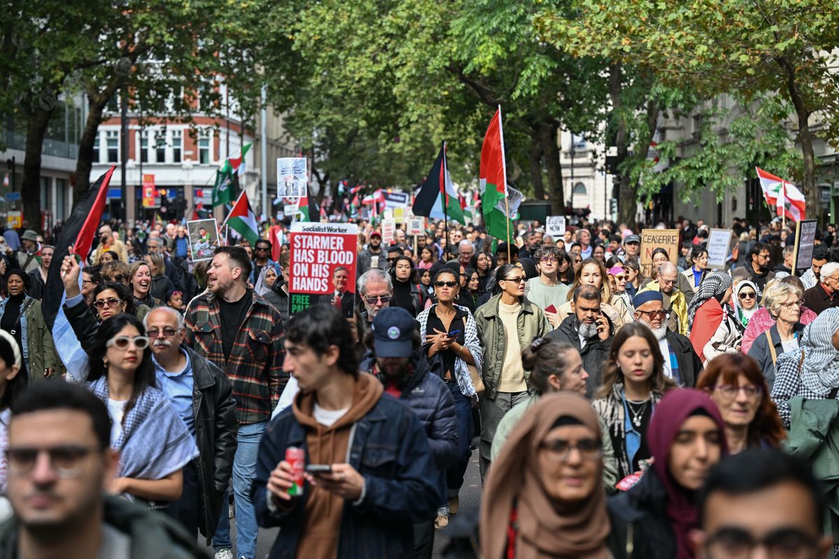
M 501 106 L 492 116 L 487 133 L 483 137 L 481 148 L 481 171 L 479 174 L 481 188 L 481 211 L 487 234 L 511 241 L 513 224 L 508 214 L 514 211 L 499 210 L 498 204 L 505 203 L 507 190 L 507 166 L 504 163 L 504 132 L 501 122 Z

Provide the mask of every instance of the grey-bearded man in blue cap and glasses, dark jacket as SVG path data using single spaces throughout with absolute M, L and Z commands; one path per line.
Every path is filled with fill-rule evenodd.
M 659 340 L 659 349 L 664 357 L 664 375 L 680 386 L 696 385 L 696 378 L 702 371 L 702 361 L 696 355 L 693 344 L 687 336 L 676 334 L 667 328 L 669 314 L 664 310 L 664 298 L 658 291 L 642 291 L 633 298 L 635 321 L 644 323 Z

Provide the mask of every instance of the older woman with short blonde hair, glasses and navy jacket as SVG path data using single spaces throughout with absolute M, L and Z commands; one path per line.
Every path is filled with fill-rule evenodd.
M 743 283 L 746 282 L 741 282 L 741 285 Z M 748 355 L 756 360 L 760 370 L 763 370 L 769 391 L 775 382 L 775 363 L 778 356 L 799 347 L 798 340 L 804 332 L 804 324 L 801 323 L 802 296 L 803 292 L 799 287 L 784 282 L 770 282 L 763 292 L 763 307 L 769 310 L 769 315 L 774 318 L 775 323 L 754 340 Z

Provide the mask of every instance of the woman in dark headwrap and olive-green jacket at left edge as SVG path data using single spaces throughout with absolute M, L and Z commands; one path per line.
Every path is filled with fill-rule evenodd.
M 23 371 L 31 380 L 49 379 L 60 363 L 41 302 L 27 295 L 30 277 L 17 268 L 6 274 L 8 298 L 0 301 L 0 329 L 12 334 L 23 351 Z

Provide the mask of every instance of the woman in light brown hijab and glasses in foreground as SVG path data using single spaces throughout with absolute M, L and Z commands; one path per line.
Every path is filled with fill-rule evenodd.
M 602 472 L 600 424 L 589 403 L 570 392 L 542 396 L 492 464 L 483 556 L 612 557 Z

